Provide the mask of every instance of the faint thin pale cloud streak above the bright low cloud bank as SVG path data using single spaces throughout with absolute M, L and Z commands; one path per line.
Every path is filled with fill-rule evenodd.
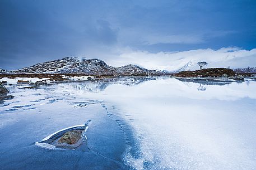
M 172 32 L 171 34 L 169 32 Z M 145 27 L 122 28 L 118 31 L 118 42 L 123 45 L 156 45 L 156 44 L 181 44 L 193 45 L 206 43 L 211 38 L 224 37 L 236 33 L 232 30 L 204 30 L 201 32 L 161 32 Z

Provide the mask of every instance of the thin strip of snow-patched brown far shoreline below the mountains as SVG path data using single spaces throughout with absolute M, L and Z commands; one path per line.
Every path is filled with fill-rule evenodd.
M 184 75 L 159 75 L 159 76 L 99 76 L 99 75 L 76 75 L 76 74 L 17 74 L 17 75 L 0 75 L 2 85 L 29 85 L 27 89 L 36 88 L 40 85 L 62 83 L 62 82 L 79 82 L 79 81 L 113 81 L 122 79 L 157 79 L 157 77 L 173 77 L 175 79 L 187 80 L 221 80 L 221 81 L 238 81 L 244 79 L 256 79 L 256 74 L 235 75 L 235 76 L 184 76 Z

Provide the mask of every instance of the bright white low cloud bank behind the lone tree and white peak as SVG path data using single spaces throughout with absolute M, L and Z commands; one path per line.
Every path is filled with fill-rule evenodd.
M 126 64 L 136 64 L 147 69 L 174 71 L 192 61 L 192 69 L 198 69 L 198 61 L 207 61 L 207 67 L 255 67 L 256 48 L 243 50 L 238 47 L 220 48 L 219 50 L 198 49 L 181 52 L 157 52 L 127 50 L 110 59 L 108 64 L 122 66 Z

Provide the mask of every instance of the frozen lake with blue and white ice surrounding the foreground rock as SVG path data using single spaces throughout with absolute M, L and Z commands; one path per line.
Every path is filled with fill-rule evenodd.
M 167 77 L 7 85 L 2 169 L 256 169 L 256 81 Z M 39 142 L 88 123 L 87 145 Z

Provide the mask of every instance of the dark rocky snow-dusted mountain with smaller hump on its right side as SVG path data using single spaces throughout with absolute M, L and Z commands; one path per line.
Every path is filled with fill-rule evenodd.
M 72 74 L 88 75 L 156 75 L 160 71 L 147 70 L 137 65 L 112 67 L 99 59 L 82 57 L 66 57 L 60 60 L 48 61 L 13 71 L 17 74 L 44 73 L 44 74 Z

